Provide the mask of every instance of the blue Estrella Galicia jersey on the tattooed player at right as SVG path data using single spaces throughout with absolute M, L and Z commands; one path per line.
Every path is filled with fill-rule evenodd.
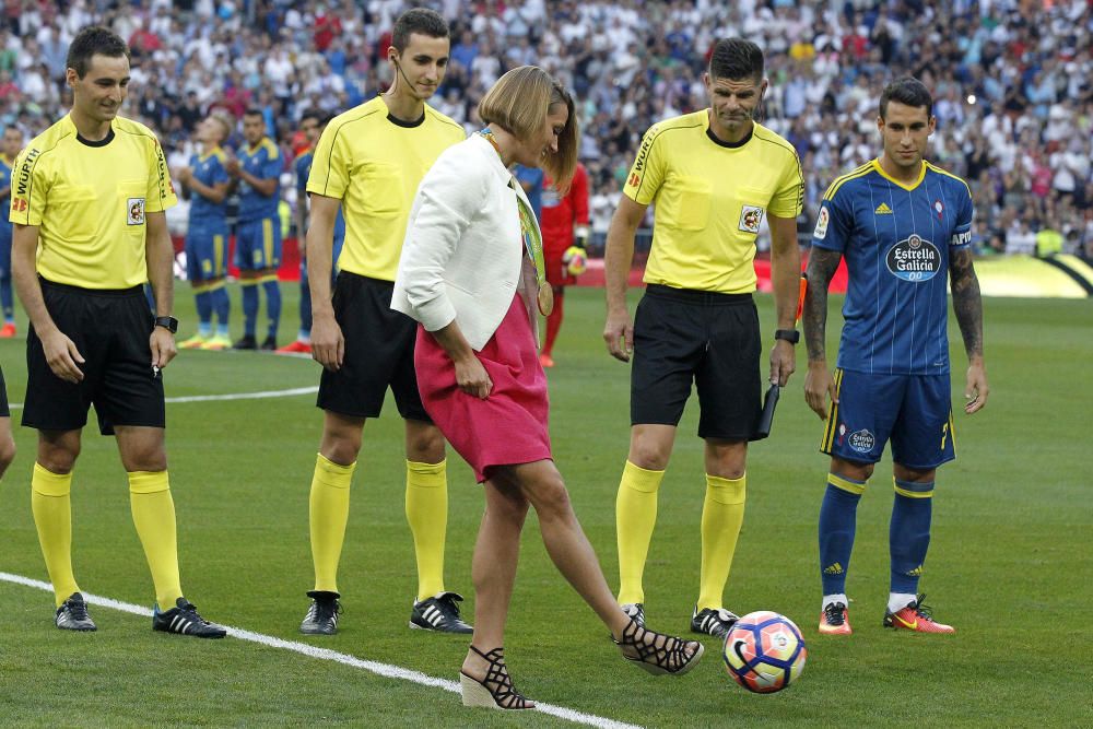
M 913 185 L 890 177 L 879 160 L 831 184 L 812 245 L 846 259 L 839 367 L 949 372 L 949 256 L 969 245 L 972 215 L 967 184 L 926 162 Z

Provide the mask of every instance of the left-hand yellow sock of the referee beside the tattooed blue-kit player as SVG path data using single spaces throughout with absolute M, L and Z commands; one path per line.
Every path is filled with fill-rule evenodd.
M 657 525 L 657 490 L 663 471 L 649 471 L 628 460 L 615 499 L 619 540 L 619 603 L 645 602 L 642 576 Z

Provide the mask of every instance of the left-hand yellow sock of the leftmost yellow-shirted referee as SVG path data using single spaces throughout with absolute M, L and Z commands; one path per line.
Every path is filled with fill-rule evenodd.
M 42 556 L 54 584 L 57 607 L 80 588 L 72 574 L 72 487 L 71 473 L 52 473 L 34 465 L 31 475 L 31 512 L 38 530 Z

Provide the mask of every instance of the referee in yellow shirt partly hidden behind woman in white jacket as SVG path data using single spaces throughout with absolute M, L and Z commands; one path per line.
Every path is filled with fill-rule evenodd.
M 425 101 L 444 80 L 448 26 L 414 9 L 395 23 L 387 58 L 395 83 L 383 96 L 334 117 L 315 148 L 307 192 L 307 280 L 312 289 L 312 356 L 324 366 L 318 405 L 322 439 L 309 499 L 315 589 L 299 630 L 338 630 L 338 563 L 349 518 L 349 491 L 364 422 L 378 418 L 388 388 L 406 421 L 406 513 L 418 560 L 410 627 L 470 633 L 462 597 L 444 587 L 448 485 L 444 436 L 421 403 L 414 375 L 416 322 L 391 310 L 395 272 L 418 184 L 463 128 Z M 338 210 L 345 243 L 330 295 Z

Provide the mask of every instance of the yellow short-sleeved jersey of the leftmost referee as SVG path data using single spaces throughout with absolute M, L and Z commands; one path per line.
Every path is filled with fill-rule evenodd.
M 11 192 L 9 220 L 38 226 L 38 273 L 83 289 L 148 281 L 145 215 L 177 202 L 155 134 L 122 117 L 89 142 L 66 115 L 20 153 Z

